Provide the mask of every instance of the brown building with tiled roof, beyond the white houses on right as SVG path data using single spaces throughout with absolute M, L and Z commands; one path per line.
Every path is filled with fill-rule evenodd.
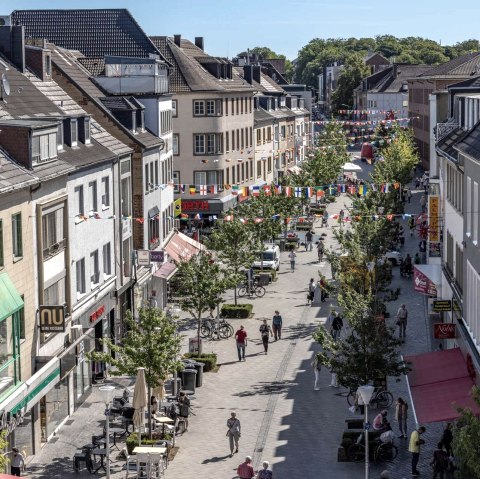
M 433 129 L 447 115 L 447 87 L 471 78 L 479 68 L 480 52 L 467 53 L 408 79 L 409 116 L 413 118 L 413 132 L 425 170 L 429 170 L 430 165 L 435 163 Z M 430 98 L 432 93 L 437 95 L 433 104 Z

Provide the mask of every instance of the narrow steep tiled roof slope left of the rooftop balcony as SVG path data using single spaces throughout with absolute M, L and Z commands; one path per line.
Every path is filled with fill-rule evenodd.
M 154 148 L 161 144 L 160 138 L 148 130 L 143 132 L 139 131 L 135 135 L 124 128 L 117 119 L 112 115 L 110 110 L 100 101 L 100 98 L 105 97 L 105 93 L 96 86 L 88 71 L 80 65 L 77 61 L 77 55 L 71 50 L 65 50 L 56 45 L 48 45 L 48 48 L 52 52 L 52 62 L 54 65 L 77 87 L 102 110 L 108 113 L 111 121 L 113 121 L 119 128 L 121 128 L 125 134 L 127 134 L 132 141 L 139 144 L 144 148 Z

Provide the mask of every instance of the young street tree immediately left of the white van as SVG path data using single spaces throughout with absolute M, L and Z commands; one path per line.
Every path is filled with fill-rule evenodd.
M 232 216 L 230 221 L 217 221 L 206 246 L 215 251 L 218 260 L 226 266 L 229 285 L 234 288 L 237 304 L 236 285 L 244 279 L 242 271 L 250 268 L 261 245 L 253 231 L 236 214 Z

